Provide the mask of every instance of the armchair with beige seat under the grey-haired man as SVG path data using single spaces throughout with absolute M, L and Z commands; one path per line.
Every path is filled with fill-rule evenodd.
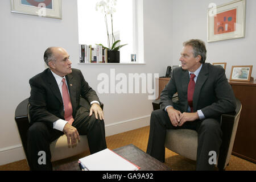
M 173 98 L 174 102 L 178 102 L 178 100 L 179 98 L 177 96 Z M 241 102 L 237 98 L 236 104 L 236 111 L 221 115 L 221 130 L 223 135 L 217 162 L 219 170 L 225 170 L 232 153 L 242 109 Z M 152 105 L 154 110 L 160 109 L 160 100 L 153 101 Z M 179 155 L 196 160 L 197 132 L 189 129 L 167 130 L 165 146 Z

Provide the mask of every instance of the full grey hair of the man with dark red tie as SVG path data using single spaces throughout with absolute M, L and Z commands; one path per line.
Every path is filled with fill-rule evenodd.
M 183 46 L 192 46 L 194 57 L 200 55 L 200 63 L 204 64 L 207 57 L 207 49 L 205 48 L 205 43 L 199 39 L 191 39 L 183 43 Z

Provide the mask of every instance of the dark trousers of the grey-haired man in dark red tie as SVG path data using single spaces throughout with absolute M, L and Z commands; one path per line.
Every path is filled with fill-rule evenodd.
M 191 129 L 198 134 L 196 170 L 213 170 L 214 164 L 209 164 L 209 151 L 220 150 L 222 131 L 216 119 L 207 118 L 193 122 L 185 122 L 183 126 L 173 126 L 166 111 L 159 109 L 152 111 L 150 118 L 150 135 L 148 138 L 147 153 L 164 162 L 167 129 Z

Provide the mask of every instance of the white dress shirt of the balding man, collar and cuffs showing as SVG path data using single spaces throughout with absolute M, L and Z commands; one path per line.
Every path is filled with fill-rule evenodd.
M 56 75 L 53 72 L 52 72 L 52 75 L 55 77 L 57 85 L 59 86 L 61 97 L 63 98 L 63 96 L 62 96 L 62 85 L 63 85 L 62 79 L 65 78 L 65 76 L 64 77 L 60 77 L 59 75 Z M 65 78 L 65 83 L 68 86 L 66 78 Z M 68 90 L 68 93 L 69 93 L 69 90 Z M 90 102 L 90 105 L 92 105 L 93 103 L 97 103 L 98 105 L 100 105 L 100 103 L 98 101 L 92 101 L 92 102 Z M 63 108 L 64 108 L 64 105 L 63 105 Z M 57 121 L 53 122 L 53 129 L 63 131 L 64 126 L 67 124 L 67 122 L 68 121 L 65 121 L 63 119 L 58 119 Z

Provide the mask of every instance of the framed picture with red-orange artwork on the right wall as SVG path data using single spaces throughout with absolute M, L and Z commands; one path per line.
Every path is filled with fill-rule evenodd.
M 208 9 L 207 41 L 245 37 L 246 0 L 236 0 Z

